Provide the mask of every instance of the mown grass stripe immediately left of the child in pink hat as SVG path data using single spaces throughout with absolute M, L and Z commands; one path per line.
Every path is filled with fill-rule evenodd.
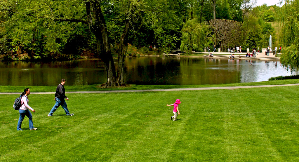
M 166 104 L 172 104 L 175 101 L 174 97 L 170 97 L 170 94 L 179 97 L 180 93 L 165 92 L 162 93 L 164 96 L 161 96 L 159 92 L 144 93 L 147 94 L 147 100 L 144 103 L 149 105 L 144 117 L 144 122 L 147 124 L 144 125 L 140 134 L 127 141 L 127 147 L 124 150 L 115 152 L 111 161 L 130 161 L 130 159 L 149 161 L 149 157 L 151 161 L 167 160 L 169 158 L 168 152 L 173 148 L 173 139 L 181 132 L 181 130 L 175 132 L 173 127 L 180 126 L 183 128 L 184 122 L 178 122 L 182 120 L 181 115 L 179 115 L 178 121 L 171 121 L 173 106 L 166 106 Z M 148 100 L 148 98 L 154 98 L 154 100 Z M 181 98 L 182 102 L 184 102 L 183 100 Z M 181 105 L 179 106 L 180 111 L 185 111 L 182 110 L 184 108 L 180 107 Z

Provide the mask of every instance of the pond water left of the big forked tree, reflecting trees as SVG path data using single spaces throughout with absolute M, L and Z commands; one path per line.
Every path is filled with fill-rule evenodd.
M 66 85 L 104 83 L 106 73 L 101 64 L 100 60 L 0 62 L 0 85 L 58 85 L 62 78 Z

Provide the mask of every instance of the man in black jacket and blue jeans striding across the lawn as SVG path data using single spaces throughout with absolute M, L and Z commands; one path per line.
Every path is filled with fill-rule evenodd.
M 52 117 L 53 113 L 56 111 L 56 109 L 61 105 L 61 107 L 64 109 L 65 114 L 69 116 L 73 116 L 74 114 L 70 114 L 68 111 L 68 106 L 66 105 L 66 102 L 64 99 L 68 100 L 68 97 L 65 96 L 65 89 L 64 85 L 65 84 L 65 79 L 61 80 L 61 83 L 57 86 L 56 88 L 56 93 L 55 93 L 55 105 L 51 109 L 50 113 L 48 114 L 48 117 Z

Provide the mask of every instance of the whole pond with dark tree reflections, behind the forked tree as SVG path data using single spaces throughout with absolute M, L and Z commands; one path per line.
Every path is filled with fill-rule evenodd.
M 279 61 L 190 57 L 129 57 L 124 68 L 124 80 L 129 84 L 259 82 L 297 74 L 286 71 Z M 0 62 L 0 76 L 0 85 L 58 85 L 62 78 L 67 80 L 67 85 L 106 82 L 104 64 L 99 59 Z

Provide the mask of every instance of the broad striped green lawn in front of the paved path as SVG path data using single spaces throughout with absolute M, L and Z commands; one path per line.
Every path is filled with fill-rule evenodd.
M 30 89 L 31 90 L 31 89 Z M 0 161 L 299 161 L 299 86 L 202 91 L 30 94 L 30 131 L 16 131 L 17 95 L 0 95 Z M 172 104 L 181 100 L 173 122 Z

